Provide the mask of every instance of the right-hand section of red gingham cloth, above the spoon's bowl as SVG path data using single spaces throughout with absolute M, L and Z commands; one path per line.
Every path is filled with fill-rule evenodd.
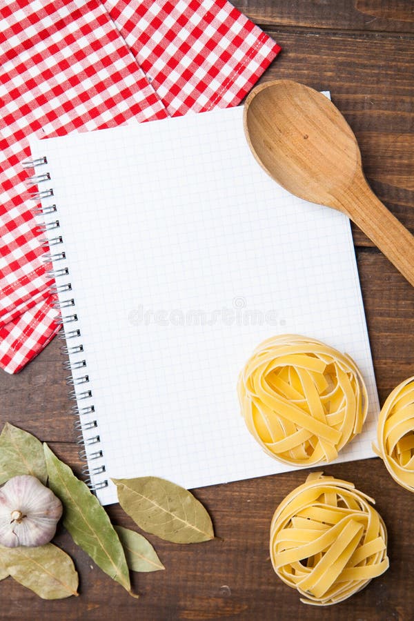
M 236 106 L 279 46 L 227 0 L 104 0 L 171 116 Z

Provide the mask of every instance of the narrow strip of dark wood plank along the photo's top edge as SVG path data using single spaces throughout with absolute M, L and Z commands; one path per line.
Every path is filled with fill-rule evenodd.
M 256 23 L 339 30 L 413 32 L 411 0 L 235 0 Z

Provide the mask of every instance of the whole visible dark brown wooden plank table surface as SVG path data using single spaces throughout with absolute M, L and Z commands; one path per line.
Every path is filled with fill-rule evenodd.
M 353 128 L 369 183 L 414 232 L 414 5 L 412 0 L 237 0 L 235 5 L 282 46 L 262 80 L 290 78 L 332 99 Z M 414 375 L 414 289 L 354 228 L 355 251 L 381 404 Z M 404 248 L 401 248 L 404 252 Z M 55 339 L 19 375 L 0 372 L 0 423 L 50 442 L 80 475 L 70 401 Z M 379 459 L 326 466 L 375 498 L 388 528 L 390 569 L 334 607 L 299 602 L 273 573 L 268 529 L 282 498 L 301 484 L 294 472 L 198 489 L 217 539 L 178 546 L 149 536 L 166 571 L 133 574 L 139 600 L 103 574 L 63 531 L 57 544 L 80 575 L 80 597 L 46 602 L 14 580 L 0 583 L 3 619 L 412 620 L 414 497 Z M 113 522 L 133 526 L 119 505 Z

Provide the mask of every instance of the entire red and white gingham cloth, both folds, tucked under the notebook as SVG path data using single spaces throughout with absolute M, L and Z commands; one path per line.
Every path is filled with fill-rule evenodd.
M 278 51 L 223 0 L 0 8 L 0 366 L 17 373 L 59 330 L 21 167 L 27 137 L 235 105 Z

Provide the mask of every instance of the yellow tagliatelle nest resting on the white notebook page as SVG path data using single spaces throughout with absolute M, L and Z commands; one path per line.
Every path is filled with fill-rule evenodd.
M 250 433 L 268 455 L 295 466 L 335 460 L 362 431 L 368 409 L 353 359 L 299 335 L 260 344 L 237 390 Z

